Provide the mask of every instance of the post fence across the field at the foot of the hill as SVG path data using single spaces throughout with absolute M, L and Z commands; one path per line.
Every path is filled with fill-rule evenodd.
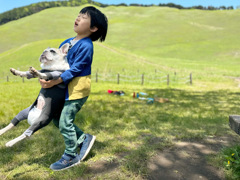
M 31 79 L 34 81 L 34 79 Z M 30 81 L 31 81 L 30 80 Z M 7 75 L 0 78 L 0 82 L 20 82 L 26 81 L 26 78 L 20 78 L 13 75 Z M 27 80 L 29 81 L 29 80 Z M 92 81 L 99 82 L 111 82 L 111 83 L 131 83 L 131 84 L 189 84 L 192 85 L 192 73 L 188 76 L 179 76 L 177 73 L 173 75 L 155 73 L 155 74 L 127 74 L 127 73 L 99 73 L 92 74 Z

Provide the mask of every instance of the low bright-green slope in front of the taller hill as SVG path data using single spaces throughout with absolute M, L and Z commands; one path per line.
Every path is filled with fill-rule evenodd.
M 40 68 L 39 57 L 47 47 L 58 47 L 64 39 L 42 40 L 24 44 L 16 49 L 11 49 L 0 54 L 0 72 L 10 74 L 11 67 L 27 71 L 29 66 Z M 93 72 L 108 73 L 121 71 L 124 67 L 139 69 L 148 66 L 149 69 L 158 67 L 158 64 L 136 58 L 131 53 L 123 53 L 101 43 L 94 43 Z M 150 68 L 151 67 L 151 68 Z M 146 69 L 145 72 L 148 72 Z

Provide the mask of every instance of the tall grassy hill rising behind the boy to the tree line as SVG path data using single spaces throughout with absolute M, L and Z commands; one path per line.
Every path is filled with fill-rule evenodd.
M 15 51 L 13 49 L 20 47 L 24 51 L 27 44 L 33 54 L 36 53 L 34 57 L 26 54 L 27 58 L 36 58 L 49 46 L 49 41 L 45 40 L 54 40 L 57 42 L 54 45 L 58 46 L 63 39 L 75 35 L 73 22 L 81 8 L 52 8 L 0 26 L 0 52 Z M 240 58 L 239 10 L 111 6 L 100 9 L 109 19 L 109 32 L 103 44 L 105 48 L 97 43 L 96 49 L 103 51 L 100 50 L 101 57 L 98 54 L 94 58 L 101 69 L 117 71 L 131 64 L 142 72 L 146 65 L 164 72 L 192 72 L 197 79 L 202 76 L 207 79 L 240 75 L 237 71 Z M 46 45 L 38 49 L 34 47 L 35 41 L 46 42 Z M 110 57 L 109 52 L 114 56 Z M 0 54 L 1 64 L 4 62 L 2 56 Z M 102 64 L 98 58 L 108 59 L 108 67 L 103 67 L 105 61 Z M 11 59 L 11 56 L 4 55 L 4 59 Z M 2 67 L 0 70 L 4 71 Z

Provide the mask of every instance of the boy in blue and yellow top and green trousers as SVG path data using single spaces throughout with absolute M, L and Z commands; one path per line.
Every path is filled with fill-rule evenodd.
M 92 41 L 104 41 L 107 35 L 108 20 L 98 9 L 92 6 L 83 8 L 74 22 L 76 37 L 69 38 L 61 43 L 70 43 L 67 59 L 70 66 L 57 80 L 40 80 L 43 88 L 50 88 L 61 82 L 68 85 L 65 104 L 59 122 L 59 127 L 65 142 L 65 152 L 62 158 L 53 163 L 52 170 L 63 170 L 80 163 L 89 153 L 95 136 L 84 134 L 75 124 L 74 119 L 78 111 L 86 102 L 90 94 L 91 64 L 93 57 Z M 77 148 L 80 147 L 80 154 Z

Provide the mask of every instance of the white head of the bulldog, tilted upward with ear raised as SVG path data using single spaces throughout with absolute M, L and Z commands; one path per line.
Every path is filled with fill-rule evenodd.
M 67 63 L 67 52 L 69 44 L 64 44 L 61 48 L 47 48 L 39 58 L 41 68 L 47 70 L 66 70 L 69 68 Z

